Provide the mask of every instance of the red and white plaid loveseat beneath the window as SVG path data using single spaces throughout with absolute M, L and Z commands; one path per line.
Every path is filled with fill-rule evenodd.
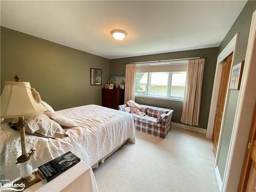
M 146 116 L 132 114 L 137 131 L 141 131 L 156 137 L 165 138 L 170 131 L 173 110 L 157 108 L 154 106 L 140 105 L 140 112 Z M 131 113 L 131 109 L 126 104 L 118 106 L 119 111 Z

